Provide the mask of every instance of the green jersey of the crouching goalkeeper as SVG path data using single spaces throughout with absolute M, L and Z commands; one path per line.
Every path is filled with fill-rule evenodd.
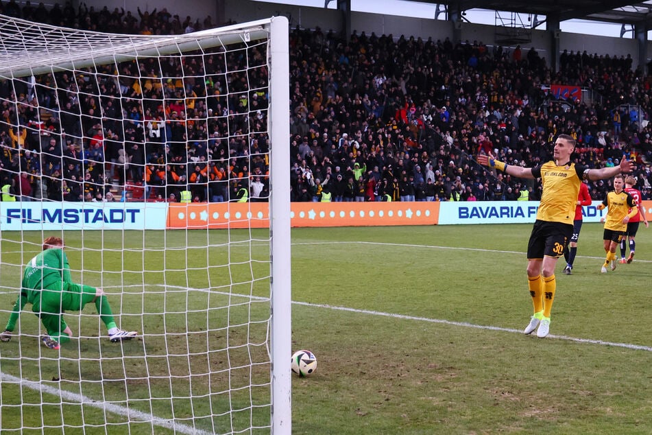
M 41 290 L 53 283 L 71 282 L 68 257 L 61 248 L 50 248 L 40 252 L 29 260 L 23 272 L 23 291 L 27 292 L 29 302 L 38 294 L 32 290 Z

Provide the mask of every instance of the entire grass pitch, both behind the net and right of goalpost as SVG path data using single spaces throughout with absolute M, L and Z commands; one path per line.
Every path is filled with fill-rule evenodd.
M 583 226 L 574 273 L 562 274 L 558 263 L 545 339 L 522 334 L 531 315 L 530 231 L 529 224 L 293 229 L 293 350 L 310 349 L 318 360 L 313 376 L 293 377 L 293 433 L 652 433 L 652 230 L 640 229 L 633 263 L 601 274 L 602 227 Z M 175 417 L 199 433 L 265 424 L 265 386 L 254 390 L 261 407 L 253 410 L 250 390 L 238 388 L 268 381 L 264 344 L 254 342 L 253 356 L 237 346 L 217 351 L 229 340 L 265 336 L 264 327 L 229 326 L 247 318 L 264 325 L 266 304 L 252 301 L 267 292 L 265 233 L 252 233 L 260 243 L 243 242 L 245 231 L 99 234 L 86 233 L 83 244 L 79 233 L 67 234 L 71 248 L 85 247 L 69 250 L 71 267 L 84 269 L 73 277 L 114 292 L 121 325 L 145 338 L 117 346 L 99 338 L 87 306 L 80 330 L 95 332 L 54 358 L 38 346 L 38 319 L 24 312 L 21 329 L 32 335 L 0 343 L 3 433 L 19 432 L 16 421 L 23 433 L 42 433 L 44 424 L 79 433 L 82 416 L 87 432 L 97 425 L 104 433 L 105 421 L 111 433 L 143 425 L 138 415 L 75 403 L 78 395 Z M 41 236 L 3 233 L 4 311 Z M 240 369 L 250 357 L 260 362 L 252 374 Z

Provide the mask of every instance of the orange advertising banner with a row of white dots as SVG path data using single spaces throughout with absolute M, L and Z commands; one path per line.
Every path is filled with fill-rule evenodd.
M 435 225 L 439 202 L 292 202 L 291 226 Z M 167 228 L 267 228 L 267 202 L 171 203 Z

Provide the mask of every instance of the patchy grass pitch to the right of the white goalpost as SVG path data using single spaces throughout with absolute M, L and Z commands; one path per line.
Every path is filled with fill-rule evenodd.
M 293 231 L 298 434 L 648 434 L 652 232 L 601 274 L 585 224 L 552 336 L 524 336 L 531 225 Z

